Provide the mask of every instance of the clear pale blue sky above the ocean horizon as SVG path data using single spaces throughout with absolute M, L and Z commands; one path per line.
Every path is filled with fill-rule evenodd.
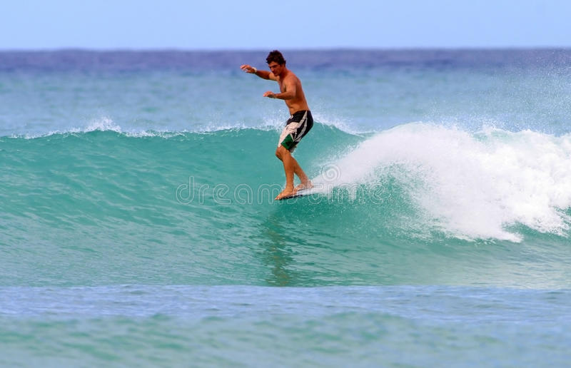
M 569 47 L 571 1 L 8 0 L 0 49 Z

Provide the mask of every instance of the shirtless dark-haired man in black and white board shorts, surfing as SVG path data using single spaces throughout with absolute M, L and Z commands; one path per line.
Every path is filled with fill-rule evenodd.
M 279 98 L 285 101 L 285 105 L 290 110 L 291 116 L 285 128 L 283 128 L 278 140 L 278 149 L 276 149 L 276 156 L 282 161 L 283 170 L 285 170 L 285 189 L 275 198 L 279 200 L 295 195 L 298 190 L 313 188 L 313 183 L 301 170 L 298 161 L 291 155 L 301 138 L 313 127 L 313 117 L 311 116 L 311 111 L 309 111 L 308 103 L 305 101 L 301 82 L 292 71 L 285 68 L 285 59 L 281 52 L 277 50 L 272 51 L 268 54 L 266 62 L 271 71 L 258 71 L 258 69 L 248 64 L 244 64 L 240 68 L 246 71 L 246 73 L 256 74 L 260 78 L 277 81 L 280 85 L 281 93 L 268 91 L 263 96 Z M 293 188 L 294 173 L 301 180 L 301 184 L 295 188 Z

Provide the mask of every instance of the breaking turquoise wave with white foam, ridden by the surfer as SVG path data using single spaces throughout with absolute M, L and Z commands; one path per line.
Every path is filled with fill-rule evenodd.
M 318 123 L 296 153 L 317 193 L 274 202 L 276 131 L 92 128 L 0 138 L 0 240 L 34 260 L 10 285 L 529 287 L 546 248 L 569 259 L 569 135 Z

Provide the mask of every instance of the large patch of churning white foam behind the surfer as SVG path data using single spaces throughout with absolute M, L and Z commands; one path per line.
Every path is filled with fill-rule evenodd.
M 424 221 L 455 237 L 520 241 L 510 225 L 559 235 L 570 228 L 571 135 L 410 123 L 365 140 L 314 183 L 373 183 L 395 166 L 391 175 L 410 185 Z

